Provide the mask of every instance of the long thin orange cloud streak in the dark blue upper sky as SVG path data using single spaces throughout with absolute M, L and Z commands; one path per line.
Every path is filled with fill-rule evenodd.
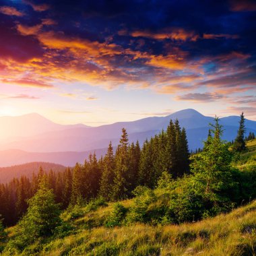
M 124 34 L 125 30 L 121 30 L 119 33 Z M 171 39 L 171 40 L 181 40 L 181 41 L 196 41 L 199 38 L 198 34 L 195 34 L 193 31 L 187 31 L 183 28 L 168 28 L 166 30 L 162 30 L 160 32 L 150 32 L 150 31 L 134 31 L 130 34 L 133 37 L 146 37 L 146 38 L 153 38 L 156 40 L 164 40 L 164 39 Z

